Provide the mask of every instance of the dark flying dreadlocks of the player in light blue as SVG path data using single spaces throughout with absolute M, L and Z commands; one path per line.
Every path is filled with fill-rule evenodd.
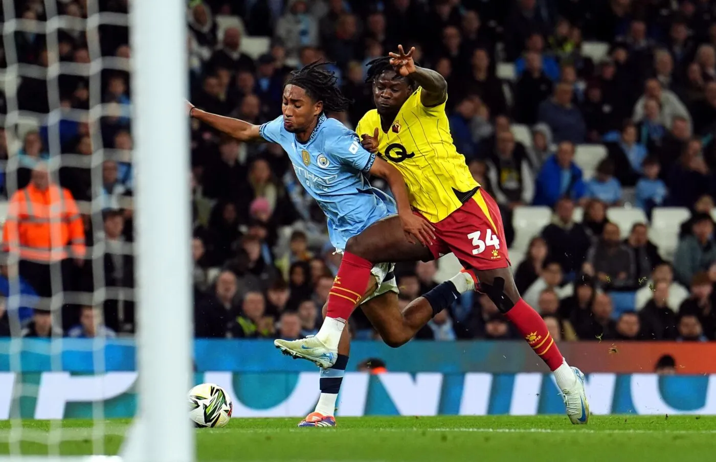
M 286 85 L 296 85 L 304 89 L 306 94 L 315 101 L 323 102 L 324 111 L 343 112 L 348 109 L 351 100 L 344 97 L 338 88 L 336 74 L 322 66 L 333 63 L 314 61 L 311 64 L 291 72 Z

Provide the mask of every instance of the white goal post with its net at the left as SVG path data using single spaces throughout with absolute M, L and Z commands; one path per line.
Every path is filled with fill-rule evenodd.
M 60 421 L 51 422 L 48 433 L 13 424 L 9 431 L 4 432 L 4 437 L 8 437 L 11 442 L 8 446 L 9 454 L 0 454 L 0 462 L 193 462 L 194 431 L 188 418 L 186 398 L 192 385 L 193 373 L 190 162 L 188 114 L 185 109 L 188 92 L 186 1 L 130 0 L 128 22 L 124 14 L 99 11 L 99 0 L 86 2 L 87 19 L 63 16 L 58 11 L 57 0 L 44 0 L 42 3 L 47 21 L 21 19 L 22 11 L 15 11 L 15 0 L 0 2 L 5 18 L 2 34 L 7 61 L 0 87 L 7 100 L 4 127 L 8 129 L 9 143 L 14 142 L 9 152 L 16 149 L 18 144 L 17 139 L 10 139 L 11 132 L 23 120 L 34 117 L 49 126 L 47 149 L 51 168 L 54 168 L 52 161 L 58 160 L 61 154 L 60 120 L 69 118 L 82 122 L 89 119 L 98 124 L 100 117 L 107 115 L 107 108 L 102 104 L 102 70 L 107 63 L 109 69 L 119 69 L 126 64 L 126 60 L 122 64 L 122 59 L 102 56 L 99 51 L 99 26 L 130 26 L 131 119 L 134 139 L 132 171 L 137 237 L 134 251 L 138 268 L 134 295 L 137 302 L 137 416 L 125 435 L 120 454 L 110 456 L 105 453 L 107 424 L 104 403 L 97 402 L 97 406 L 92 408 L 93 428 L 92 436 L 89 437 L 95 441 L 92 449 L 95 455 L 63 456 L 59 443 L 65 440 Z M 91 60 L 89 64 L 59 62 L 58 31 L 63 28 L 75 29 L 80 34 L 86 31 Z M 19 63 L 14 49 L 16 32 L 46 35 L 47 69 Z M 82 113 L 60 107 L 60 74 L 88 78 L 89 111 Z M 16 94 L 19 83 L 23 78 L 35 76 L 47 79 L 48 115 L 26 114 L 19 109 Z M 95 145 L 91 157 L 92 167 L 101 164 L 105 159 L 104 149 Z M 57 167 L 57 162 L 54 165 Z M 93 185 L 96 180 L 97 175 L 93 174 Z M 12 183 L 9 187 L 16 188 L 15 180 L 8 178 L 8 182 Z M 97 215 L 95 212 L 100 201 L 93 198 L 91 202 L 87 206 L 92 215 Z M 92 260 L 93 269 L 100 262 L 102 271 L 101 260 L 94 256 L 86 257 L 86 260 Z M 54 275 L 52 277 L 54 281 Z M 11 287 L 18 286 L 19 282 L 11 281 Z M 12 290 L 15 289 L 11 289 L 11 293 Z M 95 288 L 93 301 L 97 293 Z M 104 287 L 101 296 L 105 296 Z M 20 340 L 10 341 L 12 345 L 20 345 Z M 47 354 L 51 356 L 52 370 L 59 371 L 62 367 L 62 340 L 52 338 L 50 342 L 52 346 Z M 95 352 L 95 358 L 100 358 L 104 340 L 97 338 L 87 342 L 92 342 L 91 351 Z M 10 352 L 15 357 L 14 360 L 11 358 L 13 372 L 21 370 L 19 347 L 14 350 L 12 347 Z M 95 359 L 95 373 L 104 372 L 104 360 Z M 25 389 L 21 385 L 21 391 L 18 391 L 18 385 L 15 386 L 15 395 L 10 405 L 14 408 L 19 407 L 14 402 L 19 401 L 21 396 L 37 394 L 32 385 Z M 11 411 L 11 420 L 19 422 L 19 415 L 19 411 Z M 64 436 L 72 439 L 71 432 L 64 433 Z M 25 442 L 47 444 L 49 455 L 23 454 L 22 446 Z

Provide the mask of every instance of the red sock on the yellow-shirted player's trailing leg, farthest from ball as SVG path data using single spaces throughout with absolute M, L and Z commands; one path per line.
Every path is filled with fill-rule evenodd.
M 559 353 L 559 348 L 549 335 L 547 325 L 525 300 L 520 299 L 505 316 L 512 321 L 535 353 L 547 363 L 549 370 L 562 365 L 562 353 Z

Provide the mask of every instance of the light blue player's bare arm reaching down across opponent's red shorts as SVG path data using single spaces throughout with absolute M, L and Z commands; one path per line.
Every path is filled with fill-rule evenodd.
M 415 243 L 411 237 L 413 236 L 422 242 L 422 244 L 431 245 L 432 241 L 435 240 L 435 233 L 433 232 L 435 228 L 433 228 L 427 220 L 418 217 L 412 212 L 410 199 L 407 195 L 407 186 L 398 169 L 383 159 L 376 157 L 375 162 L 373 162 L 370 167 L 369 173 L 381 177 L 388 183 L 390 190 L 395 196 L 398 216 L 400 217 L 400 222 L 402 222 L 407 240 L 410 241 L 410 243 Z

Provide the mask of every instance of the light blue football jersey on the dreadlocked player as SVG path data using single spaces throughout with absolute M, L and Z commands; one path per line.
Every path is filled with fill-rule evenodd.
M 363 149 L 358 135 L 336 119 L 321 114 L 305 144 L 286 131 L 283 116 L 261 125 L 261 137 L 289 153 L 299 182 L 326 214 L 329 237 L 338 250 L 344 250 L 350 237 L 395 214 L 392 198 L 365 177 L 375 154 Z

